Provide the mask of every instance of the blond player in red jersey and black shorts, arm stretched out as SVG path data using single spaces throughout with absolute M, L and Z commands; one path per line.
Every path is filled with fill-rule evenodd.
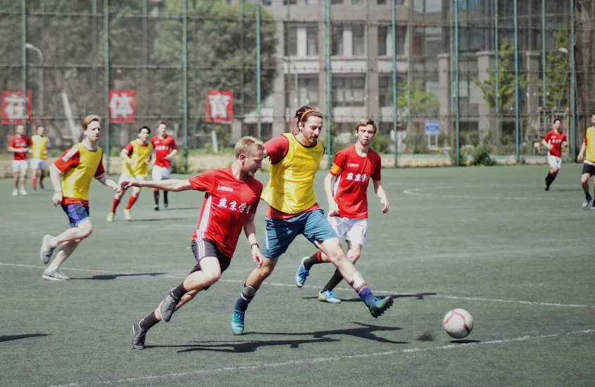
M 137 180 L 122 184 L 123 189 L 148 186 L 164 191 L 194 189 L 205 193 L 199 223 L 192 235 L 192 252 L 198 263 L 182 284 L 170 289 L 154 312 L 134 322 L 132 349 L 144 349 L 146 332 L 151 326 L 162 319 L 170 321 L 175 310 L 219 280 L 230 265 L 242 229 L 250 243 L 253 260 L 261 267 L 263 256 L 256 241 L 254 215 L 263 184 L 253 176 L 261 167 L 263 154 L 261 141 L 244 137 L 235 145 L 236 160 L 225 169 L 204 172 L 188 180 Z

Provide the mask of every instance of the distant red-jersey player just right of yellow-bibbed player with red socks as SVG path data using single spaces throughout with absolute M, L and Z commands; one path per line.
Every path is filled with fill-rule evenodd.
M 155 151 L 155 165 L 151 176 L 154 182 L 159 180 L 166 180 L 170 178 L 172 172 L 172 159 L 177 153 L 177 146 L 175 146 L 175 139 L 168 136 L 165 131 L 168 129 L 168 123 L 160 121 L 157 125 L 157 135 L 151 139 L 153 149 Z M 159 190 L 153 190 L 155 198 L 155 210 L 159 210 Z M 168 208 L 168 191 L 163 191 L 163 206 Z

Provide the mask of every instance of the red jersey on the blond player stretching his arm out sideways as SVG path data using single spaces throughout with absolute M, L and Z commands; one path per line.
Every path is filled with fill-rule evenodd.
M 192 239 L 208 239 L 231 258 L 248 214 L 256 214 L 263 184 L 253 177 L 236 179 L 232 167 L 201 173 L 189 182 L 192 189 L 205 193 Z

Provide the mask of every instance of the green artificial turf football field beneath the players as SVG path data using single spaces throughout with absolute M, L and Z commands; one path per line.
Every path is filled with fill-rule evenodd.
M 242 235 L 221 281 L 154 326 L 142 351 L 130 349 L 132 321 L 195 265 L 203 195 L 172 193 L 155 212 L 144 189 L 126 222 L 127 194 L 108 223 L 113 196 L 94 182 L 94 232 L 62 267 L 72 279 L 53 282 L 41 278 L 39 246 L 68 219 L 51 186 L 11 197 L 2 180 L 0 385 L 592 386 L 595 210 L 581 208 L 580 167 L 563 165 L 550 192 L 544 165 L 383 170 L 390 211 L 370 189 L 358 262 L 377 296 L 395 297 L 382 317 L 345 283 L 342 304 L 318 301 L 330 264 L 296 288 L 300 258 L 315 252 L 300 236 L 246 312 L 246 334 L 233 336 L 234 302 L 254 267 Z M 462 340 L 440 327 L 454 307 L 475 319 Z

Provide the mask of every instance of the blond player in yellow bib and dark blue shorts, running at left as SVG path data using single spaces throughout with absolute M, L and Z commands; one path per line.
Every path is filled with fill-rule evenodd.
M 89 219 L 89 186 L 93 178 L 116 192 L 120 191 L 120 186 L 106 177 L 102 163 L 103 152 L 97 146 L 101 131 L 99 115 L 87 115 L 82 121 L 82 131 L 84 139 L 65 151 L 61 158 L 49 167 L 49 176 L 55 191 L 51 201 L 54 205 L 62 205 L 62 209 L 68 215 L 70 229 L 58 236 L 50 234 L 44 236 L 39 253 L 44 263 L 48 263 L 56 247 L 60 243 L 63 244 L 56 258 L 44 270 L 43 279 L 54 281 L 70 279 L 60 271 L 60 265 L 93 231 L 91 219 Z M 60 175 L 62 175 L 62 182 L 60 182 Z

